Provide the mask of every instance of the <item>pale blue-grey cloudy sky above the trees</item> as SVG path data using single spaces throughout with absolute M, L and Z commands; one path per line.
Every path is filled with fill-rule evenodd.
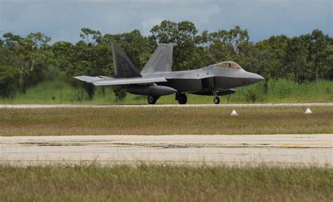
M 333 36 L 333 0 L 0 0 L 0 35 L 43 32 L 51 42 L 79 41 L 82 27 L 102 34 L 139 29 L 162 20 L 190 20 L 201 33 L 247 29 L 251 41 L 299 36 L 321 29 Z

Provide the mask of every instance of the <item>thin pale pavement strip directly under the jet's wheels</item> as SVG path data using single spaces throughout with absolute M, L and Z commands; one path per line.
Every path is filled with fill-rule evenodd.
M 0 105 L 0 109 L 38 109 L 74 107 L 333 107 L 333 103 L 264 103 L 264 104 L 191 104 L 191 105 Z

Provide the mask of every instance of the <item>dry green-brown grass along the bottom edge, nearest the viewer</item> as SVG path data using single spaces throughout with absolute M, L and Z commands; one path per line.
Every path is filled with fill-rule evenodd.
M 333 169 L 0 166 L 0 201 L 333 201 Z

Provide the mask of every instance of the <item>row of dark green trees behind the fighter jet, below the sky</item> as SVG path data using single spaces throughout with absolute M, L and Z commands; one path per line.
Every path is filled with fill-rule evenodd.
M 198 32 L 189 21 L 162 21 L 150 30 L 123 34 L 102 34 L 82 28 L 77 43 L 57 41 L 41 32 L 19 36 L 6 33 L 0 38 L 0 96 L 25 93 L 27 88 L 52 79 L 65 79 L 83 87 L 93 98 L 94 87 L 72 79 L 77 75 L 112 75 L 111 44 L 117 41 L 133 64 L 141 70 L 159 43 L 174 44 L 173 71 L 197 69 L 233 60 L 249 72 L 269 79 L 296 83 L 333 79 L 333 38 L 315 29 L 292 38 L 270 36 L 254 43 L 247 29 Z M 119 91 L 119 90 L 118 90 Z

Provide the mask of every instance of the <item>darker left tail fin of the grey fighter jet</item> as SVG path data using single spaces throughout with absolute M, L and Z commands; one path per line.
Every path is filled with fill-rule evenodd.
M 116 42 L 112 43 L 112 56 L 117 78 L 141 77 L 138 69 Z

